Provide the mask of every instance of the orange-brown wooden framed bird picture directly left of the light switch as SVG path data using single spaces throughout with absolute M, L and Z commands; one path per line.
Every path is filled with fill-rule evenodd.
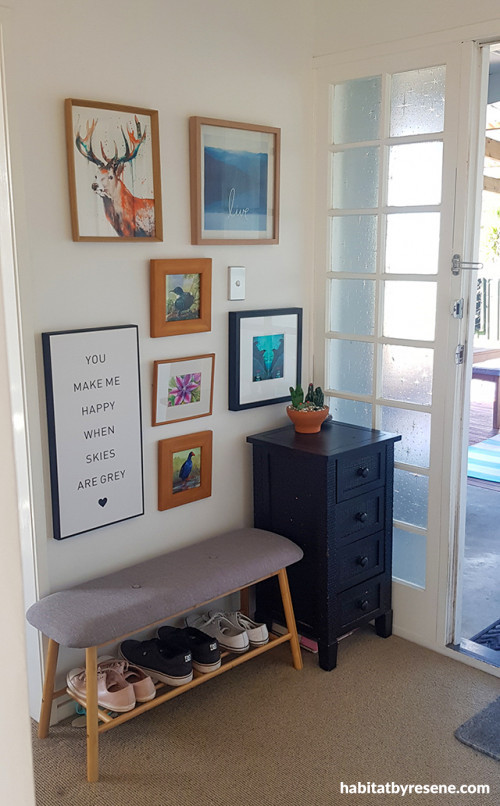
M 184 278 L 184 279 L 183 279 Z M 150 262 L 151 338 L 211 329 L 210 258 Z

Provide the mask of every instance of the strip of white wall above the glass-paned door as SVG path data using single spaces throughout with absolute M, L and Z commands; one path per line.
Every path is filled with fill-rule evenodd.
M 364 48 L 498 18 L 497 0 L 314 0 L 314 56 Z M 483 28 L 482 36 L 499 35 Z

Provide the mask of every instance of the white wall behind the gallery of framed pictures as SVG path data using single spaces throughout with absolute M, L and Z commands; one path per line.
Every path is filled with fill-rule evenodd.
M 227 408 L 227 313 L 308 304 L 311 246 L 312 20 L 303 0 L 11 0 L 6 82 L 18 238 L 39 593 L 69 586 L 252 522 L 248 434 L 287 422 L 284 405 Z M 63 101 L 159 111 L 162 243 L 71 239 Z M 281 228 L 275 246 L 191 246 L 188 118 L 282 130 Z M 210 257 L 212 331 L 149 338 L 151 258 Z M 244 302 L 227 300 L 227 266 L 247 267 Z M 145 515 L 55 541 L 41 333 L 139 325 Z M 305 373 L 308 340 L 306 317 Z M 215 352 L 213 416 L 151 427 L 154 359 Z M 157 443 L 210 429 L 211 498 L 157 508 Z

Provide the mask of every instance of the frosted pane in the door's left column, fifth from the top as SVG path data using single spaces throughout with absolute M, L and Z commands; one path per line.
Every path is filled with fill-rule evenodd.
M 373 344 L 345 339 L 328 340 L 327 387 L 338 392 L 372 392 Z

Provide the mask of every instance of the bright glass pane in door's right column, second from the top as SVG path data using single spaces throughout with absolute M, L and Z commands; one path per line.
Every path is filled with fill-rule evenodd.
M 391 146 L 388 204 L 396 207 L 439 204 L 442 162 L 442 143 Z

